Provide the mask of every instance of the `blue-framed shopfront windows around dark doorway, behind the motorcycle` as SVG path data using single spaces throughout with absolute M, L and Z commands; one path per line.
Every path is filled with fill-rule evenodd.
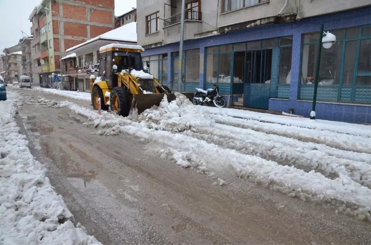
M 273 52 L 275 55 L 272 55 L 272 49 L 280 52 Z M 256 60 L 257 55 L 260 62 L 256 65 L 260 69 L 249 69 L 251 67 L 247 67 L 248 60 Z M 271 97 L 288 99 L 290 78 L 288 83 L 286 78 L 290 75 L 291 56 L 292 36 L 207 47 L 205 87 L 209 88 L 212 87 L 212 83 L 217 83 L 221 93 L 239 95 L 243 93 L 243 83 L 246 79 L 260 77 L 259 83 L 269 83 L 272 75 L 275 82 L 271 85 L 274 87 Z M 273 74 L 270 73 L 271 65 L 277 68 Z M 259 74 L 256 73 L 257 71 L 260 71 Z M 278 76 L 284 79 L 278 79 Z M 278 80 L 284 81 L 283 84 L 278 84 Z

